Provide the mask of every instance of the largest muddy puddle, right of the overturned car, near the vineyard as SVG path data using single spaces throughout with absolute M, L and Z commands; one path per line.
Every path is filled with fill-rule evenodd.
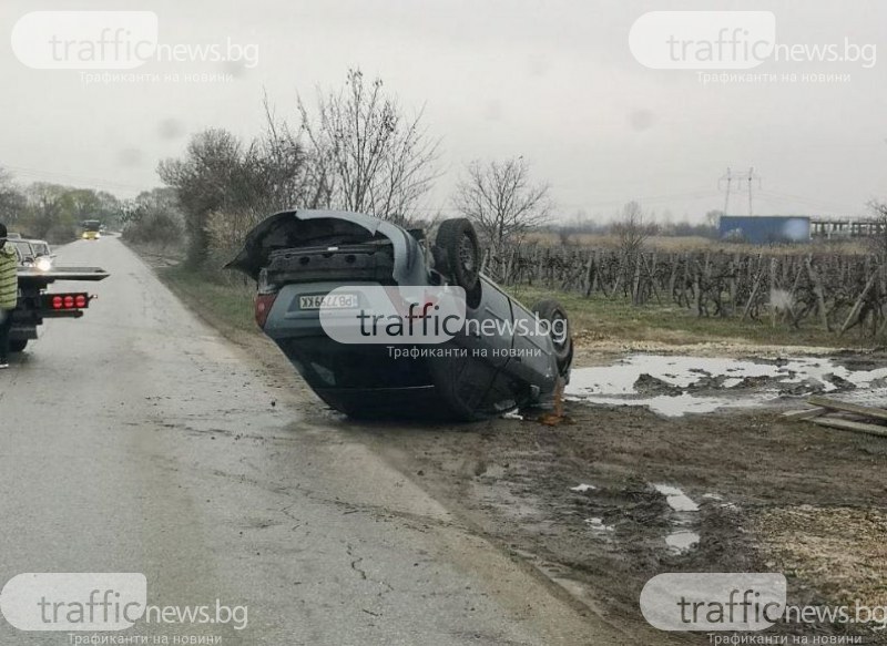
M 771 361 L 632 355 L 612 366 L 574 369 L 573 401 L 645 406 L 665 417 L 750 408 L 838 388 L 887 384 L 887 368 L 850 370 L 824 357 Z

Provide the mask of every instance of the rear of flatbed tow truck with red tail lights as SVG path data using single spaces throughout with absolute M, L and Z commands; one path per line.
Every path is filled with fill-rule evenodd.
M 54 267 L 48 271 L 19 266 L 19 303 L 12 310 L 9 349 L 21 352 L 37 339 L 37 328 L 48 318 L 80 318 L 95 298 L 86 291 L 48 291 L 59 280 L 99 281 L 110 276 L 99 267 Z

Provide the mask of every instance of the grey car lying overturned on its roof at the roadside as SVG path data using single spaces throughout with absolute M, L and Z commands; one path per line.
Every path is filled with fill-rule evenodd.
M 564 309 L 524 308 L 480 265 L 463 218 L 443 221 L 430 243 L 367 215 L 287 211 L 258 224 L 227 267 L 256 280 L 256 322 L 349 417 L 477 420 L 550 403 L 573 356 Z M 427 332 L 445 304 L 453 314 L 441 329 L 435 320 L 435 338 L 391 341 L 405 326 Z M 402 315 L 400 328 L 390 311 Z M 380 320 L 388 336 L 370 339 Z

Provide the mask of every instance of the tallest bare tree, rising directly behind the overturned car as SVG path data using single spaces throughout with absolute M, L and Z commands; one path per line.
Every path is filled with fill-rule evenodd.
M 383 82 L 350 70 L 339 92 L 318 92 L 316 116 L 298 99 L 316 206 L 368 213 L 397 223 L 415 217 L 438 177 L 439 140 L 422 112 L 408 119 Z

